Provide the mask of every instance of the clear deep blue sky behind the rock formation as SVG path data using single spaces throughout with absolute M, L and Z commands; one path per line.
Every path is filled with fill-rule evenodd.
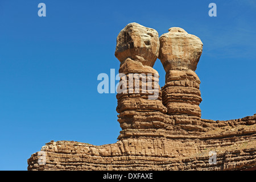
M 46 4 L 46 17 L 38 4 Z M 209 3 L 217 17 L 210 17 Z M 50 140 L 117 141 L 115 94 L 100 73 L 119 69 L 116 38 L 126 24 L 184 28 L 204 43 L 196 73 L 202 118 L 256 113 L 256 1 L 0 1 L 0 170 L 26 170 Z M 154 68 L 164 85 L 160 60 Z M 118 81 L 116 81 L 117 84 Z

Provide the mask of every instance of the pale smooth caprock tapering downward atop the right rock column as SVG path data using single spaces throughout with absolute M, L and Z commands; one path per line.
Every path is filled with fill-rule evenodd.
M 159 59 L 166 72 L 174 69 L 195 71 L 202 49 L 203 43 L 197 36 L 174 27 L 160 36 Z

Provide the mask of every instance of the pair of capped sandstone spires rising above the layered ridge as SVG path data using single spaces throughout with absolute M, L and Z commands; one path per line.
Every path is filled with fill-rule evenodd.
M 129 23 L 119 32 L 115 49 L 115 56 L 121 62 L 119 84 L 127 82 L 129 85 L 117 94 L 118 121 L 122 128 L 119 139 L 160 137 L 157 136 L 162 135 L 159 131 L 166 133 L 179 123 L 197 125 L 200 122 L 202 99 L 195 70 L 202 49 L 201 40 L 182 28 L 170 28 L 160 38 L 156 30 L 138 23 Z M 158 72 L 152 68 L 157 58 L 166 71 L 166 84 L 162 89 L 158 84 Z M 141 77 L 131 78 L 135 74 Z M 154 86 L 143 92 L 143 85 L 150 83 Z M 135 91 L 136 86 L 139 92 L 129 92 Z M 157 93 L 157 97 L 148 100 L 152 93 Z

